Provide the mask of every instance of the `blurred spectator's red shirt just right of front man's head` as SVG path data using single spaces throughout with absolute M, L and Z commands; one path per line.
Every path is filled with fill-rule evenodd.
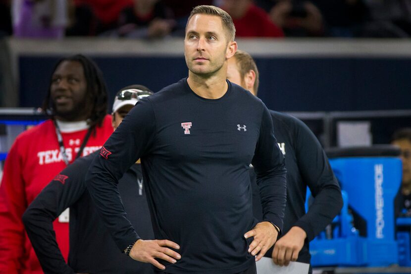
M 234 19 L 236 37 L 284 37 L 283 31 L 271 22 L 268 14 L 251 4 L 242 18 Z

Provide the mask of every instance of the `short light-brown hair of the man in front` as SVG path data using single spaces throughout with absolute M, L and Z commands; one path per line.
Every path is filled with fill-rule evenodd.
M 221 18 L 221 22 L 223 27 L 227 31 L 227 38 L 229 42 L 234 41 L 236 35 L 236 28 L 234 27 L 233 19 L 231 16 L 224 10 L 216 6 L 209 6 L 209 5 L 199 5 L 193 8 L 190 13 L 190 17 L 188 17 L 187 25 L 190 22 L 191 17 L 196 14 L 206 14 L 206 15 L 215 15 Z M 186 30 L 187 30 L 186 25 Z

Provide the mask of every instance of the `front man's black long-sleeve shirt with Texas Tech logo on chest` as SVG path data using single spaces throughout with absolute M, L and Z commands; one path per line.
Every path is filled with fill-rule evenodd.
M 104 144 L 87 175 L 89 191 L 120 250 L 139 238 L 123 212 L 117 181 L 138 158 L 154 235 L 180 245 L 167 273 L 238 273 L 254 263 L 244 233 L 256 225 L 250 164 L 264 221 L 283 227 L 284 157 L 265 105 L 228 82 L 205 99 L 182 79 L 139 101 Z

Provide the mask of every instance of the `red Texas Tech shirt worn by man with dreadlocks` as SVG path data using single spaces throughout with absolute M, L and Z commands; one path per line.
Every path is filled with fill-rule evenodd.
M 69 162 L 73 162 L 87 129 L 63 132 Z M 91 135 L 82 156 L 99 149 L 113 133 L 111 117 L 104 118 Z M 51 120 L 21 133 L 10 148 L 0 184 L 0 273 L 41 274 L 42 269 L 27 237 L 21 217 L 40 191 L 66 167 Z M 68 222 L 53 223 L 63 257 L 68 256 Z

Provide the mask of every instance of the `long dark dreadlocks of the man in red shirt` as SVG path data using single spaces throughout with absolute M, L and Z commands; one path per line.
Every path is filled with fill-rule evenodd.
M 54 74 L 57 67 L 64 61 L 79 62 L 83 66 L 87 82 L 86 100 L 89 100 L 88 106 L 92 108 L 88 123 L 94 131 L 96 126 L 102 126 L 104 117 L 107 114 L 107 86 L 103 79 L 103 73 L 93 60 L 82 54 L 76 54 L 58 60 L 51 75 Z M 51 82 L 49 91 L 43 101 L 42 109 L 51 119 L 54 119 L 55 113 L 51 107 Z

